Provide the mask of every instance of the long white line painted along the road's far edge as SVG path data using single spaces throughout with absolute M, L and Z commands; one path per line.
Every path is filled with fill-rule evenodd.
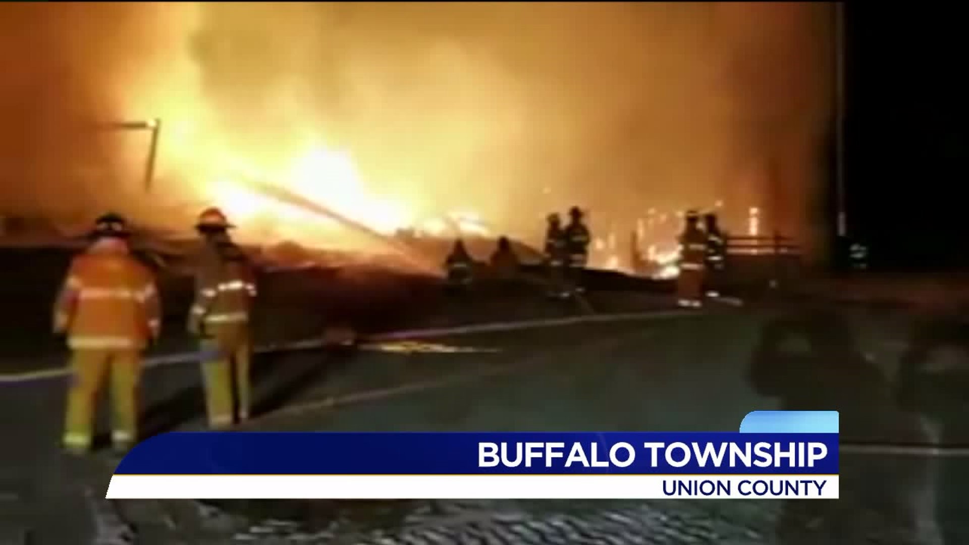
M 624 312 L 616 314 L 591 314 L 581 316 L 568 316 L 564 318 L 547 318 L 539 320 L 521 320 L 512 322 L 492 322 L 486 324 L 471 324 L 466 326 L 455 326 L 445 328 L 425 328 L 414 330 L 403 330 L 363 337 L 362 342 L 372 343 L 386 340 L 408 340 L 427 337 L 464 337 L 479 335 L 483 333 L 501 333 L 531 329 L 545 329 L 563 326 L 573 326 L 588 323 L 609 323 L 626 321 L 651 321 L 684 316 L 705 315 L 703 311 L 697 310 L 647 310 L 641 312 Z M 257 354 L 267 354 L 274 352 L 287 352 L 294 350 L 308 350 L 323 348 L 327 341 L 323 337 L 313 337 L 295 342 L 274 343 L 259 346 L 255 349 Z M 168 367 L 176 364 L 190 364 L 199 362 L 207 353 L 200 351 L 179 352 L 166 354 L 164 356 L 153 356 L 146 358 L 143 362 L 144 369 Z M 0 374 L 0 386 L 4 384 L 18 384 L 24 382 L 39 382 L 54 378 L 68 376 L 70 370 L 66 368 L 58 369 L 39 369 L 24 372 L 12 372 Z

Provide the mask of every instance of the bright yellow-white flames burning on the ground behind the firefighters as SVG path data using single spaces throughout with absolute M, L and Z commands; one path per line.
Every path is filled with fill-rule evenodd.
M 435 238 L 496 236 L 487 222 L 474 209 L 452 210 L 436 207 L 434 195 L 418 187 L 407 196 L 392 196 L 381 191 L 380 180 L 364 179 L 353 154 L 339 147 L 323 144 L 324 139 L 306 138 L 298 143 L 271 142 L 262 148 L 234 148 L 217 133 L 200 129 L 191 116 L 175 115 L 180 125 L 194 130 L 171 130 L 163 147 L 167 148 L 167 171 L 185 179 L 183 184 L 194 206 L 223 208 L 239 227 L 240 239 L 255 243 L 295 241 L 307 246 L 362 249 L 359 237 L 370 242 L 394 246 L 395 234 Z M 184 127 L 183 127 L 184 129 Z M 306 136 L 305 131 L 294 131 Z M 310 135 L 311 136 L 311 135 Z M 376 181 L 377 183 L 373 183 Z M 427 210 L 433 210 L 428 212 Z M 668 214 L 650 209 L 647 226 L 665 224 Z M 641 223 L 644 220 L 641 220 Z M 672 222 L 670 222 L 672 224 Z M 595 225 L 591 226 L 597 233 Z M 670 278 L 678 273 L 677 252 L 663 233 L 647 234 L 643 226 L 638 237 L 648 246 L 640 246 L 641 257 L 650 264 L 639 271 L 625 246 L 619 242 L 621 232 L 600 233 L 595 240 L 590 265 L 594 268 L 647 274 Z M 536 231 L 541 224 L 537 222 Z M 353 235 L 353 233 L 350 233 Z M 538 246 L 540 233 L 508 235 Z M 522 237 L 522 235 L 524 235 Z M 657 244 L 659 243 L 659 246 Z M 406 251 L 405 251 L 406 253 Z M 479 256 L 485 257 L 485 256 Z

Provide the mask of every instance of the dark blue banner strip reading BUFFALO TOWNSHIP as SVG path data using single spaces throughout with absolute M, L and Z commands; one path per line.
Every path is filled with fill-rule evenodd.
M 166 433 L 132 449 L 114 474 L 838 473 L 837 413 L 828 433 L 777 433 L 767 420 L 770 433 Z

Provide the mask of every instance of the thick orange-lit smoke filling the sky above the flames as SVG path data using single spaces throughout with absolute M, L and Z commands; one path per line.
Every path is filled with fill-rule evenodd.
M 473 208 L 526 236 L 572 204 L 591 209 L 594 229 L 621 234 L 647 208 L 717 199 L 729 228 L 760 206 L 807 235 L 805 203 L 823 176 L 823 4 L 2 10 L 11 16 L 0 24 L 19 29 L 0 37 L 2 66 L 17 73 L 4 113 L 31 127 L 4 131 L 16 156 L 5 186 L 51 187 L 14 181 L 51 154 L 114 161 L 110 147 L 51 136 L 55 117 L 140 112 L 166 119 L 170 182 L 195 172 L 187 149 L 217 142 L 270 164 L 319 139 L 348 148 L 374 192 L 427 213 Z

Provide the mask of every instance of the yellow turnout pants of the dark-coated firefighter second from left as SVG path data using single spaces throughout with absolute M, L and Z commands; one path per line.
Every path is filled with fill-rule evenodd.
M 224 326 L 201 343 L 203 350 L 216 352 L 214 358 L 202 363 L 208 425 L 214 429 L 229 428 L 235 416 L 240 420 L 249 418 L 252 403 L 248 332 L 241 326 Z

